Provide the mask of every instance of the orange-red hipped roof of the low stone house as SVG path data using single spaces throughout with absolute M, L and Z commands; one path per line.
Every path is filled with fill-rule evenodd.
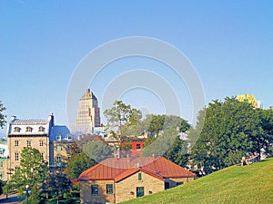
M 157 179 L 195 177 L 196 174 L 186 170 L 163 157 L 108 158 L 81 173 L 78 180 L 115 180 L 143 171 Z

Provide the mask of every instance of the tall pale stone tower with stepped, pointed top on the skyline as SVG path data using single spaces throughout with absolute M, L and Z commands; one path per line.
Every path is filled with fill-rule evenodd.
M 99 107 L 97 106 L 97 99 L 90 89 L 79 101 L 77 110 L 76 126 L 80 129 L 90 131 L 94 127 L 100 126 Z

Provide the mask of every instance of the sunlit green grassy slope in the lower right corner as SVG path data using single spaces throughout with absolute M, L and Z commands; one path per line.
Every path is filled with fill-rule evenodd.
M 232 166 L 123 203 L 273 203 L 273 159 Z

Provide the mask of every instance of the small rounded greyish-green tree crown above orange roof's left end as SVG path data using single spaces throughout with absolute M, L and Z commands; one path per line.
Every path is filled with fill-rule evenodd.
M 106 145 L 103 141 L 88 141 L 84 145 L 84 150 L 86 156 L 96 162 L 106 160 L 109 157 L 113 156 L 112 149 Z

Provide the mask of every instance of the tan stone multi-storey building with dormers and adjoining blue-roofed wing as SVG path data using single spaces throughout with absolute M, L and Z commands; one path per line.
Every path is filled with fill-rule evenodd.
M 7 124 L 7 151 L 8 159 L 5 171 L 12 174 L 20 164 L 21 151 L 25 147 L 32 147 L 40 151 L 44 160 L 51 168 L 59 167 L 68 157 L 69 144 L 73 137 L 66 126 L 55 125 L 54 115 L 47 119 L 17 119 L 12 116 Z M 59 151 L 58 145 L 66 145 L 66 153 Z M 1 146 L 0 146 L 1 147 Z M 1 150 L 1 149 L 0 149 Z M 61 148 L 61 150 L 63 150 Z

